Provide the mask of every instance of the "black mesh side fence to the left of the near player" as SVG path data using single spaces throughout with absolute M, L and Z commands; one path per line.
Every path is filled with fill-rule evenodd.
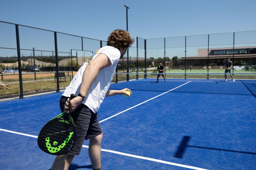
M 0 101 L 64 90 L 106 41 L 0 22 Z

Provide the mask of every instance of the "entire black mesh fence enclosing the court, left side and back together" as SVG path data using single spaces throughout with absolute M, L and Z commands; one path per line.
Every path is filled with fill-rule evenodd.
M 106 41 L 0 22 L 0 101 L 64 90 Z M 142 39 L 119 60 L 117 73 L 256 73 L 256 31 Z M 129 74 L 126 74 L 129 81 Z M 139 79 L 139 76 L 135 76 Z M 144 78 L 147 74 L 143 75 Z

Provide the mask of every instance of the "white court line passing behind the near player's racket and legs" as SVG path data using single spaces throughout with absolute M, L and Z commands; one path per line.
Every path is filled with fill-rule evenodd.
M 15 132 L 15 131 L 6 130 L 6 129 L 0 129 L 0 130 L 6 131 L 6 132 L 10 132 L 10 133 L 19 134 L 19 135 L 24 135 L 24 136 L 28 136 L 28 137 L 38 138 L 37 136 L 34 136 L 34 135 L 29 135 L 29 134 L 25 134 L 25 133 L 19 133 L 19 132 Z M 89 148 L 89 146 L 87 146 L 87 145 L 83 145 L 82 147 Z M 123 152 L 112 151 L 112 150 L 107 150 L 107 149 L 101 149 L 101 151 L 103 151 L 103 152 L 110 152 L 110 153 L 113 153 L 113 154 L 124 155 L 124 156 L 130 156 L 130 157 L 133 157 L 133 158 L 150 160 L 150 161 L 154 161 L 154 162 L 174 165 L 174 166 L 183 167 L 183 168 L 196 169 L 196 170 L 209 170 L 209 169 L 203 169 L 203 168 L 193 167 L 193 166 L 189 166 L 189 165 L 183 165 L 183 164 L 177 164 L 177 163 L 173 163 L 173 162 L 167 162 L 167 161 L 163 161 L 163 160 L 159 160 L 159 159 L 153 159 L 153 158 L 147 158 L 147 157 L 143 157 L 143 156 L 126 154 L 126 153 L 123 153 Z

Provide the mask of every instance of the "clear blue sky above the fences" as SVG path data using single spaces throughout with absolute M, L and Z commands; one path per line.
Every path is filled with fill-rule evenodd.
M 123 5 L 135 39 L 256 30 L 255 0 L 8 0 L 0 2 L 0 20 L 106 40 L 126 29 Z

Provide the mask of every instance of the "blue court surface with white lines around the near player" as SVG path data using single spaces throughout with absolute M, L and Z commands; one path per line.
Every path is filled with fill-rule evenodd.
M 155 80 L 111 84 L 132 95 L 106 97 L 98 112 L 103 170 L 256 169 L 255 80 Z M 0 103 L 0 169 L 51 169 L 37 136 L 61 95 Z M 92 169 L 88 145 L 69 169 Z

